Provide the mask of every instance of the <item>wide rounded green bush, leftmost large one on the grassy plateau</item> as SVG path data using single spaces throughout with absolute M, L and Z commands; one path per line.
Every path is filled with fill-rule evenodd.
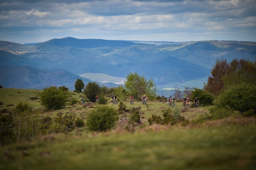
M 56 86 L 49 86 L 40 94 L 41 104 L 47 109 L 60 109 L 66 106 L 68 91 L 60 90 Z

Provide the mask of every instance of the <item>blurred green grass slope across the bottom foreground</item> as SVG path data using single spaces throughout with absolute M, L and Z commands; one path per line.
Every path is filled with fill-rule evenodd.
M 244 121 L 49 137 L 1 147 L 0 169 L 254 169 L 256 124 Z

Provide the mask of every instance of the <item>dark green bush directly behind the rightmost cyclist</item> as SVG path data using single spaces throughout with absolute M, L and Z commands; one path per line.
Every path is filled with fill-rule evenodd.
M 194 90 L 192 91 L 192 97 L 191 97 L 190 101 L 194 102 L 194 99 L 196 97 L 198 98 L 199 102 L 202 105 L 211 105 L 211 104 L 213 104 L 214 96 L 209 91 L 194 88 Z

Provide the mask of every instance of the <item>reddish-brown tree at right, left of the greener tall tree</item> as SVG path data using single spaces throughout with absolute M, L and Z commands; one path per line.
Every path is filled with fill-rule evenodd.
M 204 83 L 204 90 L 210 91 L 213 95 L 218 95 L 224 87 L 223 76 L 227 75 L 229 65 L 226 59 L 217 59 L 212 66 L 211 76 L 208 76 L 207 84 Z

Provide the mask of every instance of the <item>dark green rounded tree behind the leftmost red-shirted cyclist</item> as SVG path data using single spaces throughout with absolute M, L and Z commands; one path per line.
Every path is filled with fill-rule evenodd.
M 84 88 L 84 95 L 90 102 L 96 101 L 96 96 L 100 95 L 100 85 L 95 82 L 88 82 Z

